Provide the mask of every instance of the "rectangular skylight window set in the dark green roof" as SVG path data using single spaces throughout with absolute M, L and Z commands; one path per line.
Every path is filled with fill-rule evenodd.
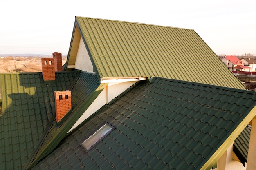
M 104 137 L 106 137 L 110 132 L 114 130 L 114 127 L 106 123 L 99 130 L 94 132 L 88 139 L 86 139 L 81 145 L 86 151 L 90 150 L 93 146 L 98 144 Z

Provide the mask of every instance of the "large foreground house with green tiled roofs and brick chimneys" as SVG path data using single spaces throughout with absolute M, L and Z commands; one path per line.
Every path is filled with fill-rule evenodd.
M 76 17 L 63 72 L 60 56 L 0 74 L 2 168 L 215 168 L 256 115 L 255 92 L 191 29 Z

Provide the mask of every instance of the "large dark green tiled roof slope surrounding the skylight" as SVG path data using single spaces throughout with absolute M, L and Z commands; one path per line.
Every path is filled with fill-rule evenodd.
M 155 77 L 98 110 L 32 169 L 200 169 L 255 104 L 252 91 Z M 80 144 L 105 122 L 115 129 L 85 152 Z

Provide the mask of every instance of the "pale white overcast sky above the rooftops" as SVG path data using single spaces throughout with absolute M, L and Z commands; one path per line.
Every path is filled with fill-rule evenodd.
M 217 55 L 256 54 L 256 0 L 2 0 L 0 54 L 67 54 L 75 16 L 194 29 Z

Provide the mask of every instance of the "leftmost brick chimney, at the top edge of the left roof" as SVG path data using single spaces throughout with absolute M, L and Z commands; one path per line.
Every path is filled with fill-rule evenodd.
M 42 58 L 41 61 L 44 81 L 55 81 L 54 59 Z

